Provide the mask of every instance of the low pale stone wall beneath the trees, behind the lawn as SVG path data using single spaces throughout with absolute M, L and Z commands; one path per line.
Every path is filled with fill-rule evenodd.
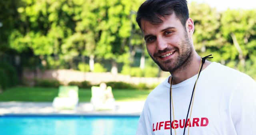
M 81 72 L 69 69 L 59 70 L 47 70 L 37 71 L 37 78 L 40 79 L 56 79 L 64 84 L 68 84 L 70 81 L 90 81 L 92 84 L 99 84 L 101 82 L 108 81 L 123 81 L 126 83 L 146 83 L 148 85 L 161 83 L 166 77 L 131 77 L 130 75 L 112 74 L 110 72 L 105 73 L 92 73 Z M 23 71 L 23 77 L 27 80 L 34 78 L 34 72 L 25 70 Z

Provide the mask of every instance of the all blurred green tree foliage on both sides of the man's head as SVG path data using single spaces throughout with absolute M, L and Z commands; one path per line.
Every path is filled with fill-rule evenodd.
M 143 1 L 1 1 L 0 51 L 30 50 L 47 68 L 78 69 L 77 57 L 111 60 L 114 66 L 116 62 L 132 65 L 136 52 L 142 57 L 147 54 L 135 21 Z M 256 77 L 256 10 L 217 12 L 195 2 L 189 4 L 189 10 L 197 52 L 213 54 L 213 61 Z

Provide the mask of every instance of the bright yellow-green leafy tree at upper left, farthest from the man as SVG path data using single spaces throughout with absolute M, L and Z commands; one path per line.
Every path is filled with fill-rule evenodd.
M 78 53 L 66 51 L 64 43 L 74 31 L 74 14 L 65 10 L 66 0 L 22 0 L 18 7 L 20 26 L 10 34 L 10 46 L 18 52 L 32 50 L 42 61 L 54 55 L 66 62 Z M 62 49 L 63 48 L 63 49 Z M 65 52 L 66 51 L 66 52 Z M 72 62 L 70 62 L 72 63 Z

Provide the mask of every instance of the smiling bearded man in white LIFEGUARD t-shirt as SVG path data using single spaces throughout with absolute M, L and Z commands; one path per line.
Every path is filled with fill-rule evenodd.
M 148 95 L 137 135 L 256 135 L 256 82 L 196 53 L 186 0 L 146 0 L 136 21 L 171 74 Z

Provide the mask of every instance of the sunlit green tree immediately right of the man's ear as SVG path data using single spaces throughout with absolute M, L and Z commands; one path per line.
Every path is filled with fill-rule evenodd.
M 193 41 L 197 52 L 203 57 L 213 54 L 214 61 L 224 62 L 220 48 L 225 39 L 220 31 L 220 13 L 208 4 L 192 2 L 188 5 L 190 17 L 194 20 Z

